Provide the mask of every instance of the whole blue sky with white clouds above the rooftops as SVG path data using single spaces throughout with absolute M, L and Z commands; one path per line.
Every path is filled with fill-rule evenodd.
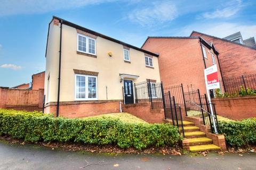
M 48 24 L 58 16 L 141 47 L 148 36 L 256 36 L 256 1 L 0 0 L 0 86 L 45 70 Z

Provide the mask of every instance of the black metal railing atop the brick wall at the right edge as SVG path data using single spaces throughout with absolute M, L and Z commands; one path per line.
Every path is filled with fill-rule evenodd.
M 242 75 L 241 77 L 220 80 L 225 92 L 228 94 L 238 94 L 247 89 L 256 90 L 256 74 Z

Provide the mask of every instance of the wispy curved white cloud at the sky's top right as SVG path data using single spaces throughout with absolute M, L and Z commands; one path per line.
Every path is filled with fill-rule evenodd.
M 228 7 L 217 9 L 214 12 L 203 13 L 202 16 L 206 19 L 215 19 L 215 18 L 229 18 L 230 16 L 235 15 L 242 8 L 242 1 L 235 0 L 227 2 Z

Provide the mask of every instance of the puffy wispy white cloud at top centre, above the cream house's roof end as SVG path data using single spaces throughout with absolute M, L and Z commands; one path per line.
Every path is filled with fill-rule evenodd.
M 157 25 L 172 21 L 178 16 L 177 7 L 172 2 L 155 2 L 151 6 L 136 8 L 129 19 L 141 25 Z

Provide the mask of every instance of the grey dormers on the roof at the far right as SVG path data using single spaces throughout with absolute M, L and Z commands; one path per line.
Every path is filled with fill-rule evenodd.
M 244 44 L 246 46 L 256 47 L 254 37 L 243 40 L 243 37 L 242 37 L 240 31 L 233 33 L 227 37 L 224 37 L 223 39 L 230 40 L 230 41 L 233 41 L 233 42 L 239 43 L 239 44 Z

